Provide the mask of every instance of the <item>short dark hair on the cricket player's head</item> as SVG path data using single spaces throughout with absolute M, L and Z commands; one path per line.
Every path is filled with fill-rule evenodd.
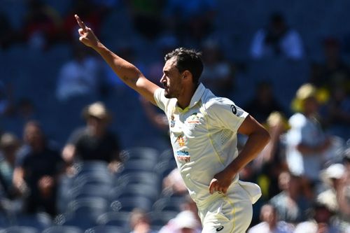
M 179 72 L 190 71 L 193 83 L 198 83 L 203 71 L 202 54 L 193 49 L 176 48 L 165 55 L 165 62 L 176 57 L 176 68 Z

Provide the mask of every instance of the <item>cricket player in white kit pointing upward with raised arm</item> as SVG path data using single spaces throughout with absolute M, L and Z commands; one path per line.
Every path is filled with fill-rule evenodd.
M 178 48 L 165 56 L 161 88 L 106 48 L 78 15 L 76 20 L 79 40 L 96 50 L 127 85 L 165 111 L 176 163 L 199 209 L 202 232 L 246 232 L 252 203 L 261 190 L 239 181 L 238 173 L 265 147 L 267 130 L 199 82 L 203 63 L 195 50 Z M 237 133 L 248 136 L 241 151 Z

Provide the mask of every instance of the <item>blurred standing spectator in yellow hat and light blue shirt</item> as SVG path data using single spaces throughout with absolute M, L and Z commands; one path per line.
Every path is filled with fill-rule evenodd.
M 302 85 L 297 90 L 294 103 L 300 103 L 300 112 L 289 118 L 286 162 L 290 172 L 295 176 L 301 176 L 304 188 L 308 188 L 310 186 L 307 183 L 318 184 L 319 173 L 332 141 L 325 135 L 317 120 L 319 104 L 316 87 L 309 83 Z M 307 193 L 311 195 L 311 190 Z

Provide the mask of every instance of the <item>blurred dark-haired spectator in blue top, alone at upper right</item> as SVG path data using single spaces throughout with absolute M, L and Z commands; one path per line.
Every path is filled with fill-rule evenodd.
M 286 57 L 300 60 L 304 57 L 302 38 L 295 29 L 288 27 L 281 13 L 274 13 L 268 26 L 255 33 L 251 44 L 251 57 Z

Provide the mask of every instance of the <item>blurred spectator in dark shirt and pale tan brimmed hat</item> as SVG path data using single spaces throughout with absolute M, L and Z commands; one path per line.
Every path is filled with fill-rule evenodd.
M 116 172 L 120 167 L 120 147 L 116 134 L 109 131 L 111 115 L 102 102 L 90 104 L 83 110 L 86 126 L 76 129 L 64 146 L 62 157 L 68 164 L 100 160 L 109 163 Z

